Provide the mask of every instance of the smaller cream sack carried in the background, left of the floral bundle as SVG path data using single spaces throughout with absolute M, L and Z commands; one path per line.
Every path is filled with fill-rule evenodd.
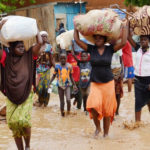
M 80 38 L 82 38 L 81 35 L 80 35 Z M 74 39 L 74 30 L 70 30 L 57 36 L 56 43 L 57 45 L 60 45 L 61 49 L 70 50 L 73 39 Z

